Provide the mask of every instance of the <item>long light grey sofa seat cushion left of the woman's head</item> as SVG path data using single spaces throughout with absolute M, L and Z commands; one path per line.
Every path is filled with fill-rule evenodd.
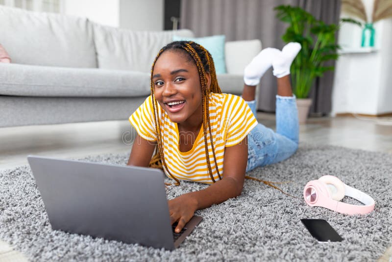
M 142 72 L 0 63 L 0 95 L 138 97 L 150 94 L 149 84 Z

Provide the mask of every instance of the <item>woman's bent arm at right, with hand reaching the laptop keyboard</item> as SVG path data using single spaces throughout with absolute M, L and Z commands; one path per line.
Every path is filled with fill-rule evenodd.
M 226 147 L 223 159 L 222 179 L 209 187 L 181 195 L 169 200 L 171 222 L 178 220 L 176 232 L 180 232 L 185 224 L 192 218 L 198 209 L 220 204 L 229 198 L 241 195 L 247 164 L 248 146 L 247 137 L 231 147 Z

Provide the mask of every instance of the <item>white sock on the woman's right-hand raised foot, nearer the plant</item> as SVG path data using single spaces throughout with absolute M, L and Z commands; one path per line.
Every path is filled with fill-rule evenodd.
M 272 60 L 273 75 L 277 78 L 283 78 L 290 74 L 291 63 L 297 53 L 301 50 L 301 44 L 290 42 L 285 45 L 281 52 Z

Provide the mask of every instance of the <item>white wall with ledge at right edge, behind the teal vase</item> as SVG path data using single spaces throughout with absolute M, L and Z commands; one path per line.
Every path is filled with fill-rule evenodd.
M 360 47 L 359 26 L 343 24 L 340 29 L 339 44 L 345 51 L 336 63 L 332 115 L 392 112 L 392 18 L 376 22 L 374 27 L 375 48 L 368 52 Z

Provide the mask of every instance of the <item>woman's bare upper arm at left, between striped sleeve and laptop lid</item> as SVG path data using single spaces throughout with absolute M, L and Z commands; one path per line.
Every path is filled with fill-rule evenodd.
M 138 134 L 133 142 L 131 154 L 126 164 L 148 167 L 155 145 L 156 142 L 148 141 Z

